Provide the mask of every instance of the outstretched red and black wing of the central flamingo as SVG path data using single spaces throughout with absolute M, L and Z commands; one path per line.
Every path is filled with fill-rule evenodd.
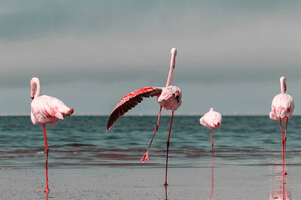
M 143 98 L 160 96 L 161 93 L 162 88 L 146 87 L 125 95 L 125 97 L 123 97 L 123 99 L 121 99 L 121 101 L 119 101 L 119 103 L 113 109 L 106 127 L 106 131 L 110 130 L 117 119 L 123 116 L 128 110 L 138 105 L 138 103 L 141 103 Z

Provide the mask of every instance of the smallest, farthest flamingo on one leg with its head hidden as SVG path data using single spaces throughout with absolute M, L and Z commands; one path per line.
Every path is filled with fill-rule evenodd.
M 213 111 L 213 108 L 210 108 L 203 117 L 200 118 L 201 125 L 209 128 L 211 136 L 211 147 L 212 147 L 212 165 L 214 165 L 214 156 L 213 156 L 213 138 L 212 138 L 212 129 L 217 129 L 222 125 L 222 115 L 216 111 Z

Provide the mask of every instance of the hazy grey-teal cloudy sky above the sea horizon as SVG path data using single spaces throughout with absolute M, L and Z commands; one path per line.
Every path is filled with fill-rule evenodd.
M 1 1 L 0 114 L 30 114 L 30 80 L 75 114 L 108 115 L 127 93 L 172 85 L 177 114 L 266 114 L 279 78 L 301 114 L 298 1 Z M 158 114 L 156 98 L 128 114 Z M 169 114 L 170 111 L 163 111 Z

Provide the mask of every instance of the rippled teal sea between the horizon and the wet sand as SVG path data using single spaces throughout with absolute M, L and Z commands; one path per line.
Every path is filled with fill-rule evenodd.
M 198 116 L 175 116 L 169 166 L 210 166 L 211 139 Z M 157 123 L 156 116 L 123 116 L 106 132 L 108 117 L 66 117 L 46 125 L 50 167 L 141 166 Z M 301 117 L 288 122 L 287 166 L 301 158 Z M 162 116 L 149 151 L 148 167 L 163 167 L 170 117 Z M 285 124 L 283 124 L 283 128 Z M 281 165 L 279 122 L 268 116 L 225 116 L 213 130 L 215 165 Z M 0 117 L 0 167 L 26 168 L 45 165 L 42 125 L 29 116 Z M 145 166 L 145 164 L 143 165 Z

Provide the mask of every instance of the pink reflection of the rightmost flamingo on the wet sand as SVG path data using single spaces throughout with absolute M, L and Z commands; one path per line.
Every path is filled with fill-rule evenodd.
M 282 175 L 280 184 L 275 184 L 270 190 L 269 199 L 290 200 L 290 193 L 286 191 L 286 175 Z

